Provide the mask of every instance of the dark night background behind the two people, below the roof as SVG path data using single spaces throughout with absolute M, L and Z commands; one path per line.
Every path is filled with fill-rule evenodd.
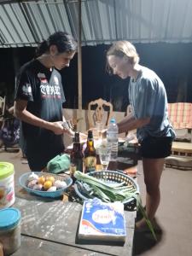
M 115 111 L 125 111 L 129 79 L 106 72 L 106 51 L 110 45 L 82 47 L 83 108 L 99 97 L 112 102 Z M 154 70 L 165 84 L 168 102 L 192 102 L 192 44 L 135 44 L 140 64 Z M 34 56 L 35 48 L 0 49 L 0 96 L 14 102 L 15 73 Z M 61 71 L 67 102 L 65 108 L 78 108 L 78 56 Z M 186 88 L 186 89 L 185 89 Z M 181 96 L 181 92 L 182 95 Z M 180 94 L 180 97 L 178 97 Z

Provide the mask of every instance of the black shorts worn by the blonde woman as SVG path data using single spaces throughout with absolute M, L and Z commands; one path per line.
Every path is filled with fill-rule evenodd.
M 172 153 L 172 137 L 146 137 L 140 144 L 139 154 L 144 158 L 165 158 Z

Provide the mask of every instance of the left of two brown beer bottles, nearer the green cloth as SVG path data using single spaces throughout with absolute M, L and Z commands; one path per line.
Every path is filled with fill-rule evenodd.
M 72 177 L 73 183 L 75 182 L 74 172 L 77 170 L 83 172 L 83 159 L 84 155 L 81 151 L 79 132 L 75 132 L 73 137 L 73 149 L 70 154 L 70 177 Z

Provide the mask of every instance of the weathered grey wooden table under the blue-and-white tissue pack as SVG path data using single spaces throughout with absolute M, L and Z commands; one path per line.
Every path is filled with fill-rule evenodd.
M 44 199 L 19 189 L 13 207 L 20 209 L 22 217 L 21 246 L 14 256 L 132 255 L 135 211 L 125 211 L 127 236 L 125 243 L 118 245 L 114 242 L 79 241 L 77 234 L 82 205 L 77 202 Z

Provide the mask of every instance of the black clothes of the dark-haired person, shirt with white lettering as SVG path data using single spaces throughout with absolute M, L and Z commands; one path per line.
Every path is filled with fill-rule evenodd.
M 62 121 L 65 96 L 61 74 L 55 69 L 49 71 L 38 60 L 26 63 L 17 76 L 15 99 L 27 101 L 26 110 L 40 119 Z M 21 122 L 20 130 L 20 144 L 24 146 L 33 170 L 44 168 L 51 158 L 64 150 L 62 135 L 26 122 Z

